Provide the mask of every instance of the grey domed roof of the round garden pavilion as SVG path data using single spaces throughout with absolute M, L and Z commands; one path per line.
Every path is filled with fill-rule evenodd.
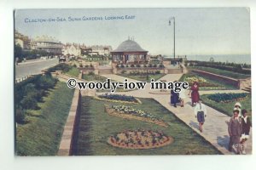
M 148 52 L 148 51 L 141 48 L 141 46 L 137 42 L 128 39 L 125 42 L 120 43 L 119 47 L 113 50 L 112 52 Z

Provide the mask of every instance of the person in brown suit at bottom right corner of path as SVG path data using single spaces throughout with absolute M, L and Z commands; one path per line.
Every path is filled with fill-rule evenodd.
M 233 111 L 234 116 L 230 118 L 228 131 L 230 134 L 230 144 L 229 150 L 235 150 L 236 154 L 241 153 L 241 144 L 240 144 L 240 137 L 241 137 L 241 117 L 238 116 L 239 111 Z

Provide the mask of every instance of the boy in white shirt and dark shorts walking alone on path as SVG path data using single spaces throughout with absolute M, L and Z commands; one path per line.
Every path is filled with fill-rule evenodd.
M 201 99 L 196 103 L 194 113 L 199 123 L 199 130 L 202 133 L 202 126 L 207 116 L 207 109 L 206 106 L 201 103 Z

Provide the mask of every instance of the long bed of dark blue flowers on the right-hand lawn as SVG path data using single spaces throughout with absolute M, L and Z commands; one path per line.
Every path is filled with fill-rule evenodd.
M 246 93 L 242 94 L 211 94 L 207 97 L 215 102 L 229 103 L 231 101 L 240 101 L 247 98 Z

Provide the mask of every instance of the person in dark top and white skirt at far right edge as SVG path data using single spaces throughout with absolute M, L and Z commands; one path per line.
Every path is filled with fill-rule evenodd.
M 246 141 L 249 139 L 250 129 L 252 123 L 250 122 L 249 117 L 247 116 L 247 110 L 241 110 L 241 153 L 246 154 Z

